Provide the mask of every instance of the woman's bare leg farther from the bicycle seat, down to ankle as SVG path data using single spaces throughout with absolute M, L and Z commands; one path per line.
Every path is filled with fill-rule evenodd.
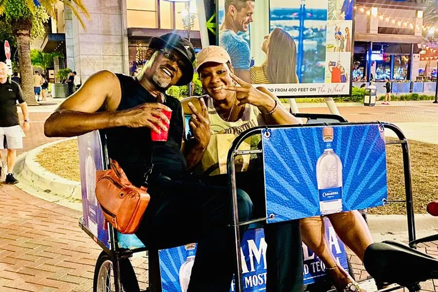
M 338 290 L 343 290 L 353 279 L 337 265 L 326 236 L 326 228 L 322 217 L 310 217 L 300 220 L 301 239 L 323 261 L 326 271 Z

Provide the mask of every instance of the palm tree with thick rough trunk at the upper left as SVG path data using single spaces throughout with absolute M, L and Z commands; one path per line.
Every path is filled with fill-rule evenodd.
M 82 0 L 60 0 L 70 7 L 81 25 L 81 11 L 86 18 L 90 18 Z M 8 24 L 13 36 L 17 40 L 21 88 L 24 100 L 29 105 L 36 105 L 31 62 L 31 31 L 34 26 L 41 25 L 44 19 L 38 17 L 38 11 L 44 10 L 49 16 L 55 16 L 55 4 L 58 0 L 0 0 L 0 17 Z M 77 7 L 77 8 L 76 8 Z

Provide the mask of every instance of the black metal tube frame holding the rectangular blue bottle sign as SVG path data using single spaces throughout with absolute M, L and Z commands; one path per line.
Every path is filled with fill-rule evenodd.
M 227 157 L 227 173 L 228 173 L 228 183 L 231 186 L 230 188 L 230 197 L 231 197 L 231 226 L 234 229 L 234 256 L 236 260 L 236 271 L 235 274 L 235 289 L 236 292 L 243 292 L 243 282 L 242 282 L 242 262 L 241 262 L 241 254 L 240 254 L 240 226 L 249 225 L 256 222 L 265 221 L 268 217 L 252 219 L 247 221 L 239 222 L 238 219 L 238 206 L 237 206 L 237 185 L 236 185 L 236 165 L 235 158 L 239 155 L 251 155 L 251 154 L 263 154 L 263 149 L 256 150 L 238 150 L 238 147 L 249 137 L 261 134 L 263 129 L 273 129 L 273 128 L 308 128 L 308 127 L 319 127 L 319 126 L 330 126 L 330 125 L 382 125 L 383 128 L 387 128 L 392 130 L 398 137 L 399 140 L 385 140 L 385 145 L 401 145 L 402 146 L 402 155 L 403 155 L 403 174 L 404 174 L 404 186 L 405 186 L 405 197 L 404 201 L 387 201 L 387 202 L 404 202 L 406 203 L 406 214 L 407 214 L 407 224 L 408 224 L 408 236 L 409 242 L 415 240 L 415 219 L 414 219 L 414 205 L 413 205 L 413 196 L 412 196 L 412 178 L 411 178 L 411 158 L 409 152 L 409 143 L 404 136 L 402 130 L 396 125 L 386 123 L 386 122 L 353 122 L 348 123 L 343 117 L 332 114 L 306 114 L 306 113 L 297 113 L 294 114 L 298 118 L 308 118 L 309 120 L 313 119 L 336 119 L 338 123 L 311 123 L 311 124 L 298 124 L 298 125 L 275 125 L 275 126 L 259 126 L 256 128 L 248 129 L 242 132 L 233 142 L 228 151 Z M 380 290 L 380 292 L 389 292 L 396 289 L 399 289 L 401 286 L 399 285 L 391 285 L 388 288 Z

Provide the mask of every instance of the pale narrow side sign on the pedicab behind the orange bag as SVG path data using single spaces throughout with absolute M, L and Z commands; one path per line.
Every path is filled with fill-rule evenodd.
M 104 229 L 104 216 L 96 199 L 96 170 L 103 169 L 102 143 L 98 131 L 77 137 L 79 169 L 81 173 L 82 211 L 84 226 L 94 235 L 94 240 L 108 248 L 108 230 Z

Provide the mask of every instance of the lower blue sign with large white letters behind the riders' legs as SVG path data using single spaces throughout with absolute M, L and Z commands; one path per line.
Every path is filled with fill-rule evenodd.
M 344 243 L 337 237 L 329 219 L 325 218 L 330 249 L 336 261 L 348 272 Z M 263 228 L 249 229 L 241 245 L 242 282 L 245 292 L 266 291 L 267 267 Z M 195 260 L 196 244 L 159 251 L 163 292 L 186 292 Z M 316 283 L 328 276 L 324 263 L 303 243 L 304 285 Z M 219 259 L 218 259 L 219 260 Z M 235 291 L 234 280 L 230 292 Z

